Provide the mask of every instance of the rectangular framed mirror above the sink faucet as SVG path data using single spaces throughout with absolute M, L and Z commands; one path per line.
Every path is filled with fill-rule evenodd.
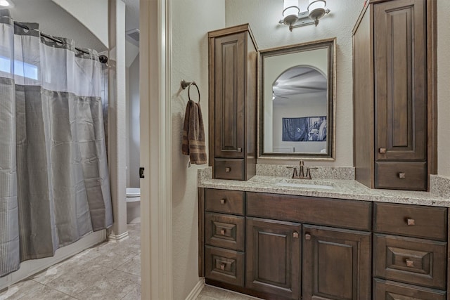
M 259 51 L 259 158 L 334 160 L 335 39 Z

